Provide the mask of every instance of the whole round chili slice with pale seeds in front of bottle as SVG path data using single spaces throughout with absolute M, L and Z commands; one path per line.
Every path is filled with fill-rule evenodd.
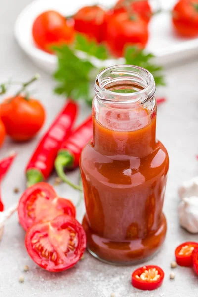
M 164 280 L 164 272 L 158 266 L 143 266 L 132 273 L 132 285 L 140 290 L 155 290 Z

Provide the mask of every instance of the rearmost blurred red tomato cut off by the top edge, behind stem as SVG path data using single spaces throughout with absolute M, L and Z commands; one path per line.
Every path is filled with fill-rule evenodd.
M 115 7 L 114 13 L 120 13 L 127 10 L 127 6 L 125 4 L 126 0 L 119 0 Z M 131 12 L 138 14 L 146 23 L 148 23 L 152 16 L 152 9 L 147 0 L 142 1 L 134 1 L 131 0 L 130 8 Z

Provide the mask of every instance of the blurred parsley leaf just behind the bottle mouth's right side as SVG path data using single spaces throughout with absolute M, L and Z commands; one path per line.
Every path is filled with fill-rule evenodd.
M 153 54 L 145 53 L 144 50 L 139 50 L 136 47 L 127 47 L 125 51 L 126 64 L 147 69 L 154 76 L 156 85 L 165 85 L 164 76 L 161 75 L 163 67 L 153 64 L 153 58 Z

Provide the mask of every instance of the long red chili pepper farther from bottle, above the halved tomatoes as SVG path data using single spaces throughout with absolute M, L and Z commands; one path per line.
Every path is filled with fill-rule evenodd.
M 26 167 L 27 185 L 46 180 L 54 168 L 54 161 L 62 142 L 68 138 L 78 111 L 69 100 L 41 139 Z

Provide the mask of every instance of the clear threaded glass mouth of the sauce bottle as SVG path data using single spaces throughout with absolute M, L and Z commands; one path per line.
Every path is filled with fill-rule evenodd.
M 155 93 L 152 74 L 141 67 L 117 65 L 102 70 L 96 78 L 95 93 L 105 102 L 144 103 Z

